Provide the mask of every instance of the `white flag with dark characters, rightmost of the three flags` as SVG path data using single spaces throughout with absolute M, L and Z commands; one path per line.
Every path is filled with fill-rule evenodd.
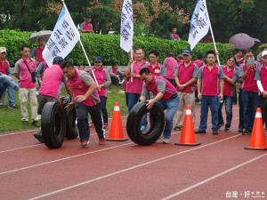
M 206 36 L 209 29 L 209 19 L 206 9 L 206 0 L 198 0 L 197 6 L 190 20 L 190 35 L 188 43 L 193 50 L 199 40 Z

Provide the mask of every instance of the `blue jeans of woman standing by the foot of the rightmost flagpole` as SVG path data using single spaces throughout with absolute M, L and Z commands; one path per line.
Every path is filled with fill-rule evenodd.
M 226 113 L 226 124 L 225 126 L 231 126 L 232 119 L 232 97 L 231 96 L 223 96 L 223 103 L 225 102 L 225 113 Z M 219 108 L 218 108 L 218 124 L 223 124 L 223 103 L 219 100 Z

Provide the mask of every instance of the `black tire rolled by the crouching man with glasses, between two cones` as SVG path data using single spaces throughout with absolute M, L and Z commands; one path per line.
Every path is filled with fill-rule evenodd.
M 147 102 L 142 101 L 134 105 L 132 108 L 126 124 L 128 136 L 134 143 L 147 146 L 155 143 L 163 132 L 165 125 L 165 114 L 162 108 L 155 103 L 149 110 L 146 107 Z M 150 113 L 153 118 L 153 124 L 150 125 L 150 130 L 146 133 L 140 131 L 140 123 L 142 116 Z

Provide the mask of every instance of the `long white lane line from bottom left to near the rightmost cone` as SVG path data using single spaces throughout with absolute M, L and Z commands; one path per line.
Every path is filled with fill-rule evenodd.
M 94 182 L 94 181 L 97 181 L 97 180 L 102 180 L 102 179 L 105 179 L 105 178 L 109 178 L 110 176 L 114 176 L 114 175 L 117 175 L 117 174 L 119 174 L 119 173 L 127 172 L 127 171 L 130 171 L 130 170 L 134 170 L 134 169 L 136 169 L 136 168 L 139 168 L 139 167 L 142 167 L 142 166 L 145 166 L 145 165 L 148 165 L 148 164 L 154 164 L 154 163 L 157 163 L 158 161 L 162 161 L 162 160 L 165 160 L 165 159 L 167 159 L 167 158 L 171 158 L 171 157 L 174 157 L 174 156 L 182 155 L 182 154 L 188 153 L 188 152 L 190 152 L 190 151 L 197 150 L 197 149 L 199 149 L 199 148 L 206 148 L 206 147 L 208 147 L 208 146 L 211 146 L 211 145 L 214 145 L 214 144 L 223 142 L 223 141 L 225 141 L 225 140 L 231 140 L 231 139 L 236 138 L 236 137 L 239 137 L 239 136 L 240 136 L 240 134 L 239 134 L 239 135 L 234 135 L 234 136 L 231 136 L 231 137 L 229 137 L 229 138 L 227 138 L 227 139 L 218 140 L 218 141 L 215 141 L 215 142 L 212 142 L 212 143 L 203 145 L 203 146 L 199 146 L 198 148 L 191 148 L 191 149 L 189 149 L 189 150 L 185 150 L 185 151 L 182 151 L 182 152 L 179 152 L 179 153 L 176 153 L 176 154 L 173 154 L 173 155 L 169 155 L 169 156 L 164 156 L 164 157 L 161 157 L 161 158 L 152 160 L 152 161 L 147 162 L 147 163 L 137 164 L 137 165 L 134 165 L 134 166 L 132 166 L 132 167 L 126 168 L 126 169 L 124 169 L 124 170 L 120 170 L 120 171 L 117 171 L 117 172 L 112 172 L 112 173 L 106 174 L 106 175 L 104 175 L 104 176 L 95 178 L 95 179 L 93 179 L 93 180 L 86 180 L 86 181 L 81 182 L 81 183 L 78 183 L 78 184 L 76 184 L 76 185 L 72 185 L 72 186 L 69 186 L 69 187 L 66 187 L 66 188 L 61 188 L 61 189 L 55 190 L 55 191 L 50 192 L 50 193 L 46 193 L 46 194 L 41 195 L 41 196 L 35 196 L 35 197 L 33 197 L 33 198 L 30 198 L 29 200 L 35 200 L 35 199 L 43 198 L 43 197 L 45 197 L 45 196 L 52 196 L 52 195 L 54 195 L 54 194 L 57 194 L 57 193 L 60 193 L 60 192 L 69 190 L 69 189 L 71 189 L 71 188 L 77 188 L 77 187 L 83 186 L 83 185 L 85 185 L 85 184 L 88 184 L 88 183 L 91 183 L 91 182 Z

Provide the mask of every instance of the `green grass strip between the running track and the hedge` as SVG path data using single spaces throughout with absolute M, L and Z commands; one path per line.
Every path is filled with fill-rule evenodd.
M 127 107 L 125 104 L 125 93 L 123 92 L 123 87 L 111 85 L 108 89 L 108 100 L 107 100 L 107 109 L 109 117 L 112 117 L 114 104 L 115 102 L 119 102 L 119 108 L 121 111 L 121 115 L 125 116 L 127 115 Z M 20 108 L 20 100 L 19 100 L 19 92 L 15 91 L 15 98 L 16 98 L 16 105 Z M 62 91 L 62 95 L 69 95 L 65 89 Z M 7 96 L 7 95 L 6 95 Z M 7 100 L 8 102 L 8 100 Z M 29 120 L 28 122 L 31 122 L 30 119 L 30 107 L 29 102 L 27 103 L 28 108 L 28 115 Z M 0 108 L 0 134 L 6 133 L 6 132 L 16 132 L 20 130 L 31 130 L 36 129 L 32 124 L 23 125 L 21 122 L 21 113 L 20 109 L 10 109 L 7 108 L 7 106 L 4 106 Z M 38 122 L 41 124 L 40 120 Z

